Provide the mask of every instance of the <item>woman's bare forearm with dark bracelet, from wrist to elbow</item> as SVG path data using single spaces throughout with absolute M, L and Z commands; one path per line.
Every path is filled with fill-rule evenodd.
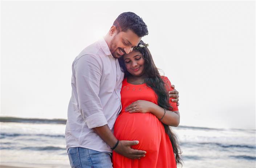
M 154 114 L 158 119 L 161 119 L 164 115 L 164 109 L 157 104 L 152 104 L 150 112 Z M 166 110 L 166 113 L 162 119 L 162 122 L 169 126 L 178 126 L 180 120 L 179 111 L 169 111 Z

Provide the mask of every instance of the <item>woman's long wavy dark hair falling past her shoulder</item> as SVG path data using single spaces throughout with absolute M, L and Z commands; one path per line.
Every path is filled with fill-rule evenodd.
M 139 42 L 139 44 L 142 44 L 143 46 L 146 45 L 142 40 Z M 144 48 L 139 48 L 134 50 L 142 53 L 142 58 L 145 60 L 143 73 L 145 73 L 147 76 L 147 78 L 145 79 L 145 83 L 147 86 L 151 87 L 155 91 L 155 93 L 158 95 L 158 105 L 162 108 L 169 109 L 172 111 L 172 107 L 169 103 L 168 91 L 166 90 L 165 83 L 158 72 L 158 68 L 155 66 L 155 63 L 153 61 L 153 58 L 149 49 L 147 47 L 144 47 Z M 131 74 L 126 69 L 123 57 L 119 58 L 118 61 L 123 72 L 125 73 L 125 77 L 131 76 Z M 171 86 L 167 86 L 167 87 L 171 88 Z M 172 132 L 171 128 L 168 125 L 163 124 L 163 126 L 165 129 L 165 132 L 169 135 L 169 138 L 172 144 L 172 149 L 175 155 L 176 165 L 177 164 L 182 165 L 182 159 L 181 159 L 182 151 L 180 150 L 180 147 L 179 147 L 178 138 Z

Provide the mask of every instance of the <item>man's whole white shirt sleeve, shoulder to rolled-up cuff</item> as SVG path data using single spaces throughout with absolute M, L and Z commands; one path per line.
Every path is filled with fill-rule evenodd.
M 99 98 L 102 63 L 93 55 L 81 56 L 74 67 L 79 110 L 88 128 L 107 124 Z

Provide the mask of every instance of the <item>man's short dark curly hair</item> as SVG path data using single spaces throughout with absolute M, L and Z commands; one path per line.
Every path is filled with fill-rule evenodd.
M 113 23 L 113 26 L 117 27 L 117 32 L 127 30 L 133 31 L 139 37 L 143 37 L 149 34 L 147 25 L 143 22 L 142 18 L 133 12 L 121 13 Z

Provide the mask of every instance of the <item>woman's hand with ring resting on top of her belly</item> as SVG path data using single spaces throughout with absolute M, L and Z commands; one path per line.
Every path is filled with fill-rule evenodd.
M 156 104 L 146 100 L 137 100 L 128 105 L 125 111 L 129 113 L 150 113 L 154 105 Z

